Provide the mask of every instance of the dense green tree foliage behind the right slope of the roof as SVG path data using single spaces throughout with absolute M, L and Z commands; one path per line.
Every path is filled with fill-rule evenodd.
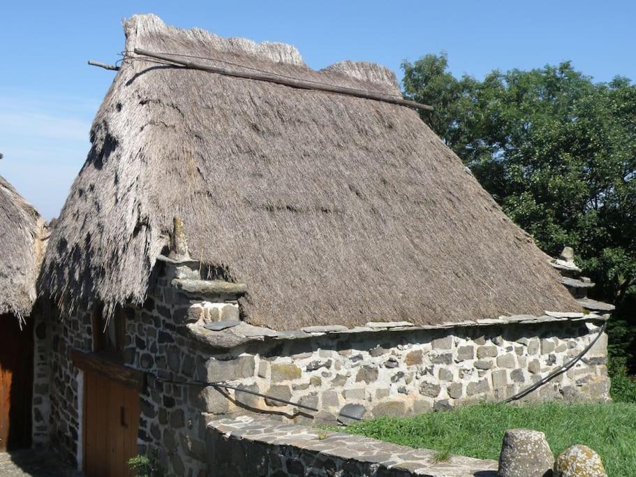
M 634 353 L 636 85 L 595 83 L 569 62 L 482 81 L 455 78 L 445 54 L 402 68 L 404 95 L 434 106 L 422 119 L 505 212 L 547 254 L 575 249 L 595 296 L 622 317 L 614 351 Z

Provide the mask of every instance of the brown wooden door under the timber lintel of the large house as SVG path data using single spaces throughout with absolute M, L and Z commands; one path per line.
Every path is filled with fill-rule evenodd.
M 137 390 L 84 372 L 84 473 L 134 477 L 128 459 L 137 454 L 140 407 Z

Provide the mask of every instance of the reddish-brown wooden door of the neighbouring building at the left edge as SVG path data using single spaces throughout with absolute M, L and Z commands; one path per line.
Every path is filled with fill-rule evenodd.
M 33 324 L 0 315 L 0 451 L 31 446 Z

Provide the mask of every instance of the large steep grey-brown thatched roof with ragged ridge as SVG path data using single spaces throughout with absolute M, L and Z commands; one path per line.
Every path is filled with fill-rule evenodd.
M 579 309 L 548 257 L 414 110 L 131 52 L 399 95 L 386 68 L 313 71 L 290 45 L 175 29 L 154 15 L 124 30 L 128 59 L 45 260 L 43 285 L 60 304 L 143 302 L 179 216 L 191 256 L 247 285 L 242 309 L 255 325 Z

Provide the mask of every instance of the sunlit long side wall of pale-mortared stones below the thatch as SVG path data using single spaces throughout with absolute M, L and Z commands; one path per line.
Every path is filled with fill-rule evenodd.
M 580 353 L 597 332 L 568 321 L 333 334 L 210 356 L 198 378 L 306 404 L 320 409 L 321 421 L 337 420 L 341 411 L 404 416 L 511 397 Z M 575 367 L 524 399 L 609 399 L 606 346 L 603 335 Z M 228 401 L 225 392 L 205 390 L 207 411 L 244 407 L 309 422 L 295 406 L 231 391 Z

